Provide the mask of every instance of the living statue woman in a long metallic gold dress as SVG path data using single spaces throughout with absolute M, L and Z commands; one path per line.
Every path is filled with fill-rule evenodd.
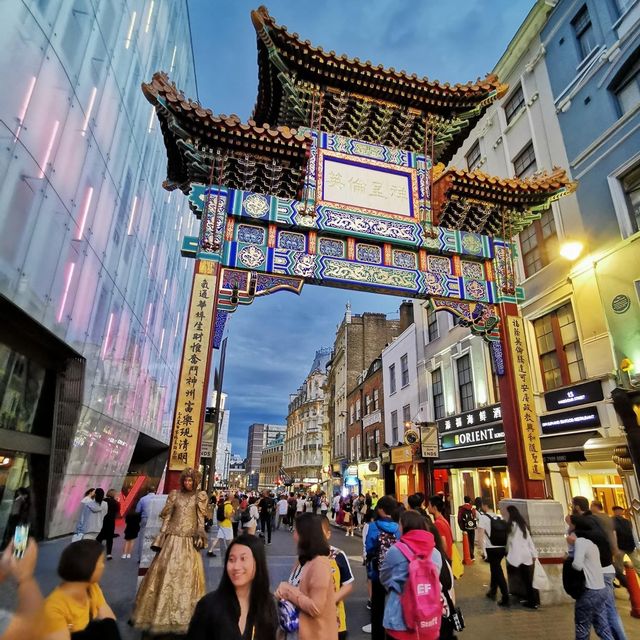
M 207 545 L 204 519 L 207 494 L 198 491 L 200 474 L 191 468 L 180 476 L 160 512 L 156 555 L 143 578 L 131 616 L 134 627 L 150 634 L 186 634 L 198 600 L 205 594 L 200 550 Z

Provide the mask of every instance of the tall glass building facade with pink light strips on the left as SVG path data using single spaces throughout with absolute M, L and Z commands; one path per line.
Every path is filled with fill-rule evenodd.
M 140 84 L 195 69 L 186 0 L 8 2 L 0 41 L 0 535 L 28 486 L 53 537 L 169 441 L 197 221 Z

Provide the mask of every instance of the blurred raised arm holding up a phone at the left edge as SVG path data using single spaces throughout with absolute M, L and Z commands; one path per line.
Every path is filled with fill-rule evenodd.
M 20 558 L 10 542 L 0 559 L 0 582 L 13 578 L 18 604 L 14 612 L 0 609 L 1 640 L 35 640 L 40 637 L 38 618 L 42 611 L 42 593 L 33 577 L 38 560 L 38 546 L 27 542 Z

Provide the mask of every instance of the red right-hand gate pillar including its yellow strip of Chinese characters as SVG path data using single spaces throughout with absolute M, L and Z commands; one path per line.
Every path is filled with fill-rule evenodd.
M 500 341 L 504 375 L 498 376 L 498 384 L 511 496 L 544 498 L 544 463 L 531 388 L 530 361 L 522 317 L 515 304 L 500 305 Z

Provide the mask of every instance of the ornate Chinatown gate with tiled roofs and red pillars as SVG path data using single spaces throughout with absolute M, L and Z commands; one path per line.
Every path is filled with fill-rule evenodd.
M 503 179 L 444 168 L 505 94 L 495 76 L 440 84 L 315 48 L 264 7 L 251 19 L 259 86 L 247 123 L 214 115 L 165 74 L 142 87 L 165 139 L 164 187 L 180 189 L 201 221 L 182 247 L 195 270 L 167 488 L 199 463 L 212 349 L 228 314 L 315 284 L 426 299 L 483 336 L 512 495 L 544 498 L 512 238 L 575 185 L 562 170 Z

